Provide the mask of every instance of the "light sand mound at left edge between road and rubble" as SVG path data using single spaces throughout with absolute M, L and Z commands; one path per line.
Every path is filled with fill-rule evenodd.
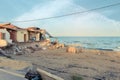
M 3 67 L 3 68 L 9 68 L 13 70 L 22 70 L 29 66 L 31 66 L 31 64 L 24 61 L 16 61 L 16 60 L 0 57 L 0 67 Z

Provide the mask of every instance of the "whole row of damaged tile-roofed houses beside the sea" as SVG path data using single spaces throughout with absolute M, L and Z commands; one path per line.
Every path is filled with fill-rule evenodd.
M 0 24 L 0 39 L 4 39 L 9 43 L 43 41 L 46 39 L 46 35 L 51 37 L 45 29 L 38 27 L 23 29 L 11 23 Z

